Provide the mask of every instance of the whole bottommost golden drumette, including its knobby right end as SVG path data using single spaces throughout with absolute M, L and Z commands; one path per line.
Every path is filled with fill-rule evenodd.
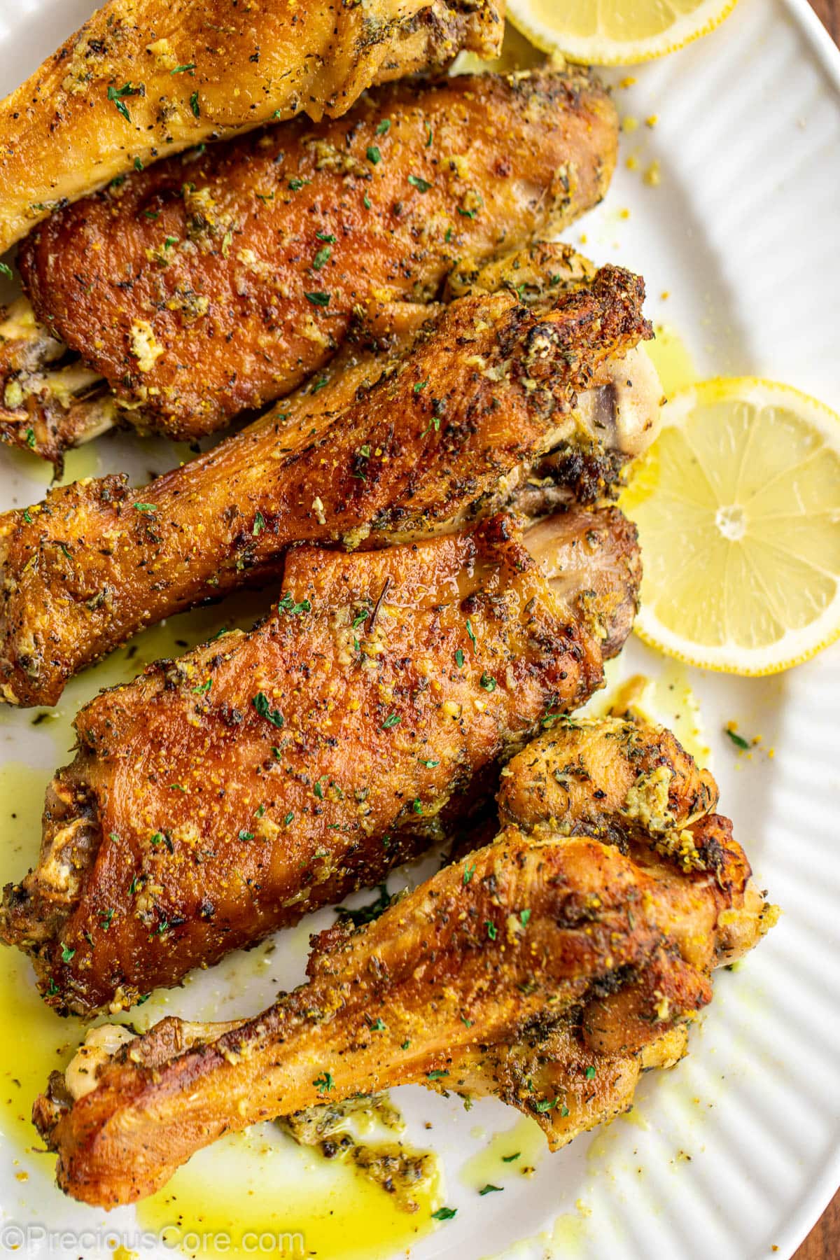
M 626 724 L 558 718 L 510 762 L 506 784 L 543 771 L 562 780 L 577 766 L 568 813 L 509 788 L 504 811 L 524 801 L 530 832 L 509 822 L 375 922 L 322 932 L 309 984 L 256 1019 L 164 1019 L 88 1058 L 84 1076 L 54 1074 L 34 1119 L 58 1152 L 59 1186 L 97 1206 L 130 1202 L 222 1133 L 404 1082 L 496 1095 L 533 1115 L 552 1149 L 626 1110 L 641 1070 L 683 1055 L 684 1022 L 710 1000 L 712 969 L 773 921 L 728 820 L 685 798 L 685 784 L 705 777 L 710 803 L 713 782 L 666 732 Z M 642 764 L 679 779 L 674 825 L 694 829 L 698 850 L 717 832 L 714 871 L 661 857 L 644 824 L 615 842 L 612 805 L 618 829 L 633 811 L 618 780 L 637 784 Z M 608 804 L 601 781 L 616 790 Z M 597 811 L 602 838 L 586 833 Z

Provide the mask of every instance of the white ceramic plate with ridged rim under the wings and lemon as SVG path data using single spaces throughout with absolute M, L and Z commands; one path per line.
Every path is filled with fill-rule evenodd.
M 88 0 L 0 0 L 0 92 L 88 11 Z M 636 82 L 618 87 L 627 74 Z M 645 275 L 654 318 L 679 331 L 703 375 L 775 377 L 840 410 L 840 55 L 805 0 L 742 0 L 707 39 L 608 77 L 622 115 L 641 126 L 623 136 L 606 204 L 570 239 L 579 243 L 584 233 L 596 260 Z M 644 120 L 652 115 L 651 129 Z M 623 161 L 631 154 L 636 170 Z M 642 179 L 654 161 L 659 186 Z M 165 444 L 106 438 L 98 469 L 89 470 L 127 467 L 140 476 L 162 470 L 173 455 Z M 0 451 L 0 507 L 40 498 L 34 467 Z M 244 615 L 242 601 L 234 605 Z M 655 674 L 662 662 L 633 643 L 623 669 Z M 840 651 L 767 680 L 699 670 L 689 677 L 722 808 L 762 886 L 783 907 L 782 920 L 738 970 L 718 976 L 690 1056 L 644 1080 L 639 1123 L 617 1121 L 545 1155 L 530 1179 L 511 1173 L 501 1194 L 479 1197 L 458 1169 L 486 1143 L 472 1135 L 476 1126 L 490 1135 L 516 1116 L 501 1104 L 482 1102 L 467 1115 L 456 1099 L 398 1091 L 412 1134 L 441 1153 L 447 1202 L 458 1207 L 453 1221 L 417 1245 L 417 1260 L 500 1252 L 759 1260 L 772 1247 L 783 1260 L 840 1182 Z M 78 706 L 93 687 L 74 683 L 63 704 Z M 772 746 L 773 759 L 763 751 L 738 757 L 723 735 L 729 719 L 744 733 L 761 732 L 759 748 Z M 42 767 L 44 781 L 57 764 L 44 728 L 13 712 L 0 712 L 5 757 Z M 0 839 L 37 850 L 37 835 Z M 394 876 L 392 888 L 399 885 Z M 330 921 L 316 916 L 305 932 Z M 229 960 L 175 993 L 169 1009 L 193 1013 L 212 1002 L 222 1017 L 257 1011 L 278 984 L 298 980 L 305 934 L 295 940 L 270 968 Z M 0 1038 L 14 1036 L 0 1028 Z M 20 1152 L 0 1137 L 0 1230 L 9 1220 L 131 1227 L 132 1210 L 106 1218 L 64 1200 L 44 1157 L 23 1160 L 29 1181 L 16 1181 L 13 1158 Z M 201 1158 L 210 1187 L 220 1166 L 212 1153 Z M 86 1245 L 31 1254 L 96 1260 L 111 1251 Z

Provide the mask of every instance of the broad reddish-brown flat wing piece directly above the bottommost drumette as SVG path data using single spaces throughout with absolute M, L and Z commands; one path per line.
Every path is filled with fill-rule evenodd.
M 290 553 L 283 595 L 76 719 L 3 936 L 60 1011 L 130 1005 L 377 883 L 470 809 L 632 624 L 635 529 L 582 508 L 423 544 Z M 536 558 L 535 558 L 536 556 Z

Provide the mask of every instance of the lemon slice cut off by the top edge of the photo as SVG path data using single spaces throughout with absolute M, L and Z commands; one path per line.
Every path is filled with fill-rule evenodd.
M 508 16 L 545 53 L 586 66 L 662 57 L 714 30 L 737 0 L 508 0 Z

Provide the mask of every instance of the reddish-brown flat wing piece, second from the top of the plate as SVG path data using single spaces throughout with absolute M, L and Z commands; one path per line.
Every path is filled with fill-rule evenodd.
M 428 301 L 456 260 L 559 231 L 615 160 L 615 108 L 579 71 L 398 83 L 338 121 L 130 174 L 53 214 L 19 266 L 40 326 L 113 391 L 112 416 L 196 437 L 321 368 L 359 305 Z M 77 396 L 15 369 L 16 349 L 0 357 L 3 431 L 54 457 L 64 427 L 78 440 Z

